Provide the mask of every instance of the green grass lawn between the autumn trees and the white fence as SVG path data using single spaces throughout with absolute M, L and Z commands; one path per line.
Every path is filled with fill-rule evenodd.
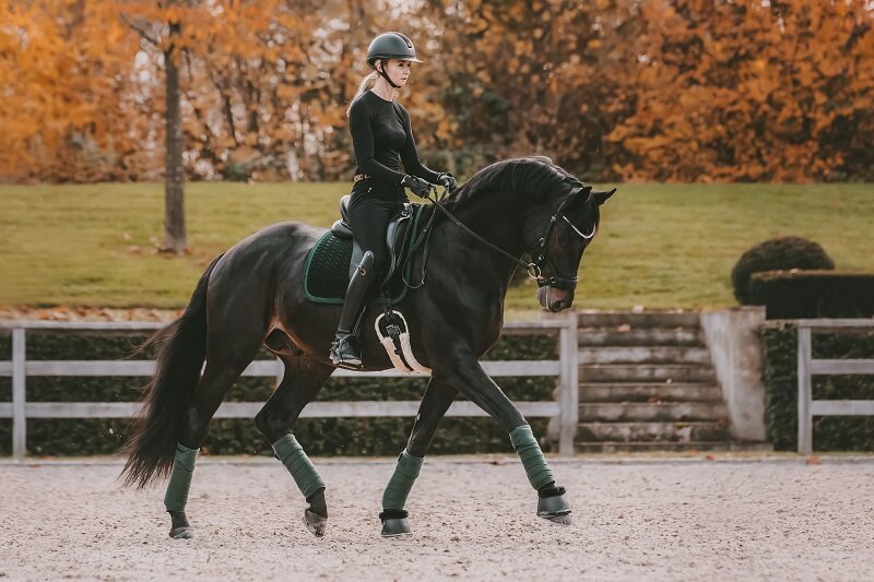
M 152 252 L 163 240 L 163 185 L 0 187 L 0 305 L 180 307 L 216 253 L 274 222 L 328 226 L 347 191 L 187 185 L 193 250 L 167 258 Z M 621 186 L 583 258 L 576 306 L 733 305 L 732 265 L 776 235 L 816 240 L 840 270 L 874 272 L 873 234 L 871 185 Z M 535 309 L 534 289 L 511 290 L 508 307 Z

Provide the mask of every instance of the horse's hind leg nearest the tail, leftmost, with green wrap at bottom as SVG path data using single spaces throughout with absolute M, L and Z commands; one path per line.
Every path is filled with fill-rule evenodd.
M 198 450 L 206 438 L 210 420 L 225 393 L 258 354 L 263 336 L 264 330 L 253 322 L 240 324 L 233 332 L 217 326 L 210 331 L 206 367 L 185 416 L 164 497 L 164 506 L 172 520 L 169 535 L 174 539 L 193 535 L 185 509 Z

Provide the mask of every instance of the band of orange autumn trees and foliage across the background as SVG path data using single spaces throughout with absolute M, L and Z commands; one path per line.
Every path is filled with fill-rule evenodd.
M 0 179 L 157 179 L 170 21 L 190 179 L 349 179 L 344 111 L 386 29 L 426 61 L 401 102 L 438 169 L 874 178 L 865 0 L 33 0 L 0 4 Z

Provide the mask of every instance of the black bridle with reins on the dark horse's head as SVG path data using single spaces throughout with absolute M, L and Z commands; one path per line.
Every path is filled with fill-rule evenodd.
M 505 251 L 504 249 L 501 249 L 497 245 L 493 245 L 492 242 L 487 241 L 486 239 L 484 239 L 483 237 L 481 237 L 480 235 L 477 235 L 476 233 L 471 230 L 468 226 L 465 226 L 451 212 L 446 210 L 446 207 L 437 200 L 436 195 L 432 195 L 432 194 L 434 194 L 436 192 L 436 188 L 434 186 L 430 187 L 430 191 L 428 192 L 428 194 L 425 195 L 425 198 L 427 200 L 430 200 L 432 203 L 440 210 L 440 212 L 442 212 L 450 221 L 452 221 L 462 230 L 464 230 L 465 233 L 468 233 L 473 238 L 475 238 L 476 240 L 479 240 L 480 242 L 482 242 L 486 247 L 491 248 L 495 252 L 501 254 L 506 259 L 509 259 L 510 261 L 512 261 L 517 265 L 523 268 L 528 272 L 528 275 L 531 278 L 536 280 L 539 287 L 550 286 L 550 287 L 554 287 L 556 289 L 572 292 L 577 287 L 577 281 L 578 281 L 577 274 L 574 273 L 572 276 L 560 275 L 558 273 L 558 269 L 556 269 L 555 264 L 550 259 L 550 251 L 547 249 L 547 245 L 550 244 L 550 237 L 552 236 L 553 228 L 555 228 L 555 224 L 558 222 L 559 218 L 565 221 L 568 225 L 570 225 L 570 228 L 572 228 L 574 233 L 577 236 L 579 236 L 580 238 L 582 238 L 584 240 L 589 240 L 594 236 L 594 233 L 597 230 L 595 226 L 592 226 L 592 231 L 589 233 L 588 235 L 586 235 L 579 228 L 574 226 L 574 223 L 571 223 L 570 219 L 568 219 L 568 217 L 565 216 L 565 214 L 562 212 L 565 209 L 565 204 L 567 204 L 567 202 L 571 198 L 574 198 L 576 195 L 576 193 L 578 193 L 582 189 L 581 188 L 577 188 L 575 190 L 577 190 L 577 192 L 571 191 L 571 193 L 567 198 L 565 198 L 564 201 L 562 201 L 562 203 L 558 205 L 558 209 L 555 211 L 555 213 L 550 217 L 550 224 L 546 227 L 546 234 L 540 239 L 540 242 L 539 242 L 539 246 L 538 246 L 538 250 L 536 250 L 535 253 L 533 253 L 533 257 L 535 257 L 535 259 L 534 259 L 533 262 L 530 262 L 530 263 L 527 263 L 527 262 L 520 260 L 519 258 L 513 257 L 509 252 Z M 435 213 L 435 215 L 436 215 L 436 213 Z M 417 240 L 416 244 L 413 245 L 413 248 L 410 251 L 410 256 L 412 256 L 415 252 L 415 249 L 416 249 L 416 247 L 418 247 L 420 242 L 422 242 L 423 239 L 427 239 L 428 236 L 430 235 L 430 226 L 432 226 L 432 223 L 434 221 L 434 216 L 435 215 L 432 215 L 432 219 L 429 221 L 429 224 L 425 227 L 425 230 L 427 231 L 427 236 L 421 237 L 420 240 Z M 426 245 L 427 245 L 427 242 L 426 242 Z M 426 247 L 426 252 L 427 252 L 427 247 Z M 550 269 L 551 275 L 548 277 L 543 276 L 543 268 L 544 266 L 548 266 L 548 269 Z M 421 282 L 420 285 L 423 285 L 424 283 L 425 283 L 425 273 L 424 273 L 424 265 L 423 265 L 422 282 Z

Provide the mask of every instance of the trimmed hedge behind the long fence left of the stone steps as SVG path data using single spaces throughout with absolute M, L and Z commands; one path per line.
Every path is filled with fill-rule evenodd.
M 144 335 L 107 332 L 27 332 L 29 359 L 120 359 Z M 556 359 L 556 338 L 544 335 L 503 337 L 485 359 Z M 10 359 L 11 337 L 0 334 L 0 359 Z M 151 359 L 154 353 L 138 356 Z M 271 358 L 263 349 L 259 358 Z M 28 402 L 127 402 L 139 400 L 145 378 L 29 377 Z M 241 378 L 225 401 L 267 400 L 275 380 Z M 556 379 L 501 378 L 501 389 L 515 401 L 552 400 Z M 338 378 L 319 393 L 319 401 L 421 400 L 426 379 Z M 0 402 L 11 400 L 11 380 L 0 379 Z M 545 437 L 546 418 L 532 418 L 534 433 Z M 110 454 L 125 442 L 128 419 L 27 420 L 27 450 L 36 455 Z M 307 453 L 321 455 L 397 455 L 406 444 L 412 418 L 303 418 L 295 433 Z M 11 420 L 0 420 L 0 454 L 11 454 Z M 548 450 L 548 443 L 543 443 Z M 203 451 L 212 454 L 272 455 L 253 419 L 213 419 Z M 430 453 L 511 452 L 509 437 L 492 418 L 446 418 Z

